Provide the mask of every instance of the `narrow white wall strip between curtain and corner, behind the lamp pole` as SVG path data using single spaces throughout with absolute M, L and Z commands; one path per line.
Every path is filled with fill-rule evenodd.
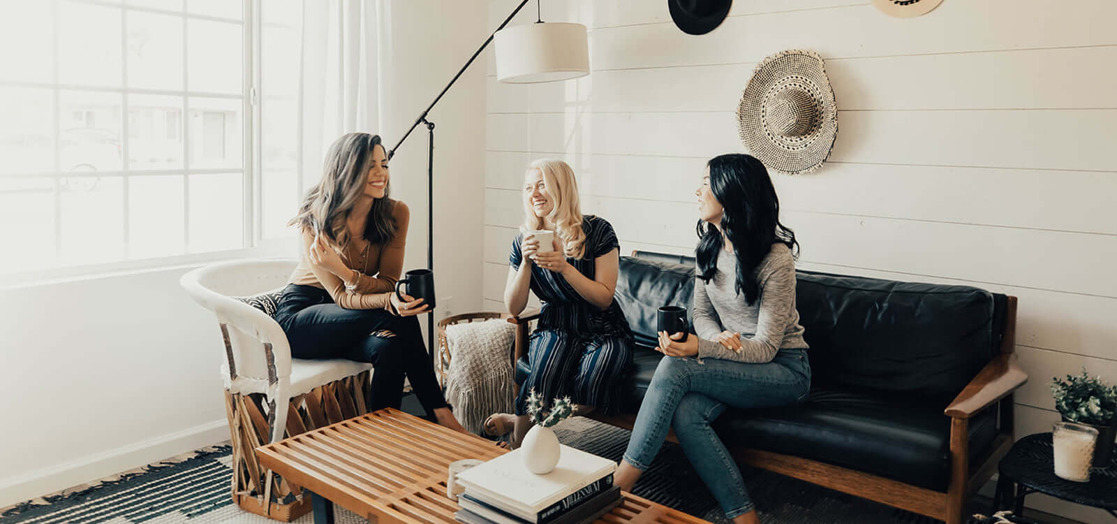
M 381 133 L 392 147 L 494 28 L 484 0 L 385 3 L 392 31 L 380 42 L 388 101 Z M 428 116 L 435 123 L 436 318 L 481 307 L 485 93 L 478 58 Z M 427 267 L 427 149 L 420 125 L 392 159 L 393 197 L 411 208 L 404 268 Z

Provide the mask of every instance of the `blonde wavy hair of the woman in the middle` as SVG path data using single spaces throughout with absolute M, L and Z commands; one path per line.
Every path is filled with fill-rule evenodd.
M 585 231 L 582 230 L 582 209 L 577 200 L 577 180 L 570 164 L 561 160 L 540 159 L 531 163 L 528 170 L 537 169 L 543 173 L 547 194 L 554 207 L 547 219 L 555 225 L 555 235 L 565 246 L 565 255 L 581 259 L 585 256 Z M 536 217 L 532 209 L 532 197 L 524 194 L 524 231 L 543 229 L 543 218 Z

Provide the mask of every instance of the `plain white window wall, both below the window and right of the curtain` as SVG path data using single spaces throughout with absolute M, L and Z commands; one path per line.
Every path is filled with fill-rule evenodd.
M 483 0 L 384 7 L 391 146 L 488 28 Z M 431 113 L 437 317 L 481 305 L 484 107 L 481 61 Z M 408 268 L 426 266 L 426 152 L 422 128 L 392 163 L 394 197 L 412 210 Z M 178 284 L 192 267 L 0 290 L 0 507 L 228 439 L 220 331 Z

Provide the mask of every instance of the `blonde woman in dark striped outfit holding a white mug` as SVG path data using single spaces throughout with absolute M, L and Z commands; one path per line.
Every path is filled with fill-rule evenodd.
M 531 428 L 525 401 L 534 390 L 548 402 L 563 396 L 575 415 L 618 406 L 617 385 L 632 360 L 631 332 L 613 302 L 620 245 L 613 227 L 583 216 L 574 171 L 560 160 L 536 160 L 524 175 L 524 225 L 512 244 L 504 302 L 512 315 L 527 305 L 531 289 L 543 302 L 529 339 L 532 373 L 516 397 L 516 413 L 496 413 L 485 432 L 513 432 L 518 447 Z M 540 251 L 533 230 L 554 231 L 553 250 Z

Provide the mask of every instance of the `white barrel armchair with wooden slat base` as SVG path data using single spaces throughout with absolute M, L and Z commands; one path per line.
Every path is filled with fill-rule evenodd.
M 367 412 L 372 365 L 292 359 L 273 318 L 293 260 L 237 260 L 187 273 L 183 288 L 217 315 L 225 340 L 232 497 L 241 508 L 289 522 L 311 509 L 302 488 L 261 469 L 256 447 Z M 273 489 L 274 488 L 274 489 Z

